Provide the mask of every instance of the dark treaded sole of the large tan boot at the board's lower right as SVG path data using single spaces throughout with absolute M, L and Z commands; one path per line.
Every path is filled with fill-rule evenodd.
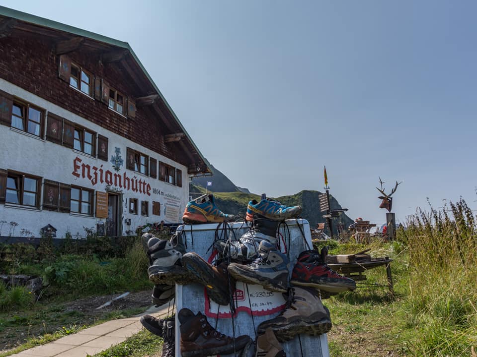
M 329 319 L 320 319 L 317 321 L 303 321 L 296 320 L 284 326 L 273 326 L 271 327 L 275 336 L 279 342 L 286 342 L 292 340 L 298 334 L 307 334 L 312 336 L 319 336 L 327 333 L 331 330 L 331 320 Z M 257 333 L 264 333 L 265 329 L 258 329 Z

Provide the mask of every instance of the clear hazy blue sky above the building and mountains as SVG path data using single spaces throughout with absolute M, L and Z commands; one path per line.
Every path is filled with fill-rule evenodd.
M 205 157 L 269 196 L 351 218 L 475 208 L 475 1 L 30 1 L 4 6 L 132 46 Z

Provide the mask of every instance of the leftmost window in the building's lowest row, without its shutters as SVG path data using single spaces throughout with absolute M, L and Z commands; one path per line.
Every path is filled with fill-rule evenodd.
M 23 174 L 8 173 L 6 179 L 6 203 L 38 207 L 40 179 Z

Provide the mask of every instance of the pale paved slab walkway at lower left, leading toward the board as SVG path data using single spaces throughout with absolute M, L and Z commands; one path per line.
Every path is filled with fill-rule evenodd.
M 120 344 L 141 331 L 143 325 L 139 319 L 146 314 L 163 317 L 167 314 L 167 304 L 159 308 L 152 307 L 139 316 L 111 320 L 89 327 L 74 335 L 33 347 L 11 357 L 86 357 L 88 354 L 92 356 Z

